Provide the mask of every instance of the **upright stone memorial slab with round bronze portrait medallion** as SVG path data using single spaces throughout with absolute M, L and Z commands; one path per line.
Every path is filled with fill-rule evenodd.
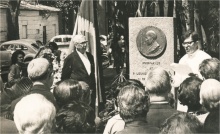
M 169 70 L 173 62 L 173 17 L 129 18 L 130 79 L 145 84 L 148 70 L 157 66 Z

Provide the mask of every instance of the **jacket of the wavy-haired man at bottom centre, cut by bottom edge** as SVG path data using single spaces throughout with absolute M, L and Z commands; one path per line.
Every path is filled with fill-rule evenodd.
M 116 134 L 152 134 L 159 133 L 159 128 L 149 125 L 145 121 L 132 121 L 125 123 L 124 130 Z

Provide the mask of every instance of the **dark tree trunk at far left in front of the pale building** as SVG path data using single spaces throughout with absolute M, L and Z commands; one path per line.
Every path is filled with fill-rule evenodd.
M 18 15 L 21 0 L 9 0 L 8 10 L 8 40 L 19 39 Z

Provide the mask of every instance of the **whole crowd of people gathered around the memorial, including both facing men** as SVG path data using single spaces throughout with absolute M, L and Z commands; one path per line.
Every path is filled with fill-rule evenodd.
M 146 83 L 128 79 L 117 84 L 116 112 L 101 133 L 220 133 L 220 61 L 198 50 L 197 36 L 187 32 L 184 38 L 186 55 L 179 64 L 189 66 L 188 76 L 171 76 L 158 66 L 147 72 Z M 9 87 L 1 89 L 1 133 L 96 133 L 104 123 L 94 111 L 94 59 L 86 52 L 88 41 L 83 35 L 72 41 L 74 50 L 63 65 L 56 44 L 49 47 L 62 67 L 55 85 L 50 55 L 28 64 L 28 78 L 20 68 L 24 53 L 12 55 Z M 174 87 L 175 81 L 179 85 Z M 187 109 L 179 110 L 174 103 Z

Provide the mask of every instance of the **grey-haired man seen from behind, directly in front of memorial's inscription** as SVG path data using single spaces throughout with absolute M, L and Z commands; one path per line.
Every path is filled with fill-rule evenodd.
M 161 67 L 154 68 L 147 73 L 145 88 L 150 93 L 150 109 L 147 121 L 150 125 L 160 125 L 177 110 L 169 104 L 168 94 L 171 91 L 170 76 Z

